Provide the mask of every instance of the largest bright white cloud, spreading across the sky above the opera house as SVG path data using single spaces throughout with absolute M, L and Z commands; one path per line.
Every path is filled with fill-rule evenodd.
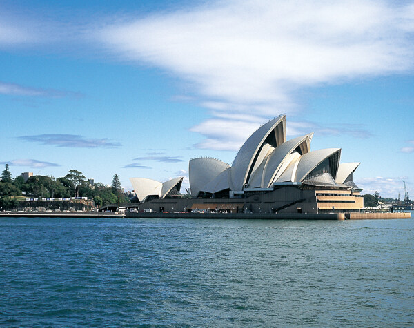
M 122 59 L 190 82 L 215 116 L 193 127 L 206 136 L 198 146 L 233 150 L 233 133 L 257 125 L 219 112 L 270 119 L 297 110 L 299 88 L 412 70 L 413 32 L 413 3 L 247 0 L 127 19 L 99 38 Z

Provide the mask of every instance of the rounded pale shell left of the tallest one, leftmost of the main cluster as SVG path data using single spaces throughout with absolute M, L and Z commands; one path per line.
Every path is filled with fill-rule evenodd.
M 197 197 L 205 185 L 213 181 L 221 172 L 228 168 L 228 164 L 215 158 L 201 157 L 191 159 L 190 163 L 188 163 L 191 196 Z

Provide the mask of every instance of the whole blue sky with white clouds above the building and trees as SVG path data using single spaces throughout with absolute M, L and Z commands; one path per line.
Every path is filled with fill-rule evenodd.
M 286 114 L 414 194 L 414 1 L 0 1 L 0 63 L 13 176 L 186 177 Z

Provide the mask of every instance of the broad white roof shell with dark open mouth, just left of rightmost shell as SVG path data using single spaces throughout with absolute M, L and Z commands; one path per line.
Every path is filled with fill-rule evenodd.
M 340 148 L 326 148 L 304 154 L 299 159 L 294 181 L 301 182 L 304 178 L 306 178 L 306 176 L 308 176 L 309 173 L 313 171 L 313 169 L 315 169 L 315 167 L 317 167 L 317 165 L 325 161 L 327 158 L 330 158 L 332 176 L 335 179 L 340 156 Z

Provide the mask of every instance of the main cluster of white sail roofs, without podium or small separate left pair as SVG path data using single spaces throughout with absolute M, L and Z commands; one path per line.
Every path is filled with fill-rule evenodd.
M 312 137 L 286 141 L 286 116 L 278 116 L 247 139 L 231 167 L 215 158 L 191 159 L 191 195 L 222 197 L 298 183 L 360 191 L 352 180 L 359 163 L 339 164 L 339 148 L 311 151 Z

